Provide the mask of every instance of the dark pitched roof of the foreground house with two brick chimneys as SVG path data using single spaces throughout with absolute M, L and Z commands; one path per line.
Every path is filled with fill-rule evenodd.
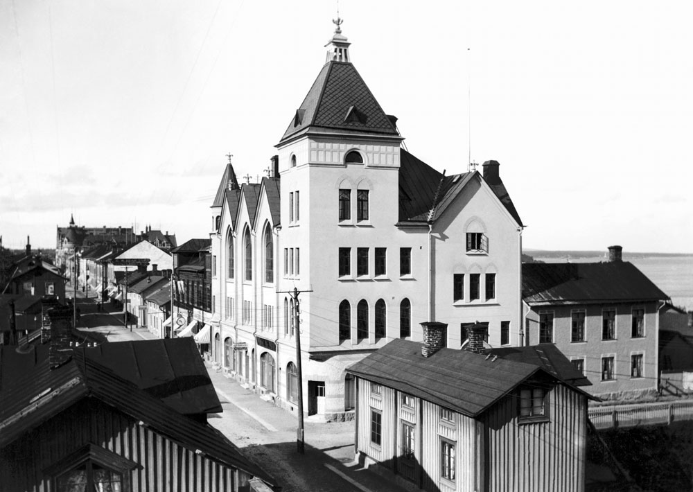
M 421 344 L 408 340 L 392 340 L 347 371 L 473 417 L 535 374 L 556 378 L 536 364 L 469 351 L 440 349 L 425 358 Z

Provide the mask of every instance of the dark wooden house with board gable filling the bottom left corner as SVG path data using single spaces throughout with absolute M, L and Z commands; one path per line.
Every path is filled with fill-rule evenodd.
M 206 414 L 221 410 L 191 340 L 1 347 L 0 490 L 267 491 Z M 93 487 L 93 488 L 92 488 Z

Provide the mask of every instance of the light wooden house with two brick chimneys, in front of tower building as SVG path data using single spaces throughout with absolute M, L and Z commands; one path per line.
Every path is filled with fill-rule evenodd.
M 347 369 L 356 454 L 425 491 L 583 491 L 588 384 L 554 347 L 439 348 L 393 340 Z M 472 341 L 472 338 L 475 341 Z M 438 342 L 437 342 L 438 341 Z

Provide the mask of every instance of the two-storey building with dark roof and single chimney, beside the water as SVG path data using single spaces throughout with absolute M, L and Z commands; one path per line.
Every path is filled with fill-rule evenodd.
M 610 247 L 603 263 L 525 263 L 528 344 L 555 344 L 601 398 L 654 393 L 658 309 L 669 297 Z

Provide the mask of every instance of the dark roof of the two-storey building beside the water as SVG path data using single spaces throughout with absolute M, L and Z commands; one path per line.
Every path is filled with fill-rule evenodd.
M 669 297 L 628 261 L 523 263 L 528 304 L 595 304 L 663 301 Z

